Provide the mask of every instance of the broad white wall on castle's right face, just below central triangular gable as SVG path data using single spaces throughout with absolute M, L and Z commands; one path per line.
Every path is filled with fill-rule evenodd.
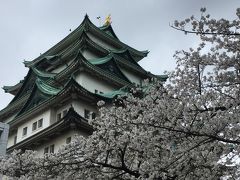
M 93 77 L 92 75 L 87 74 L 86 72 L 81 72 L 76 76 L 76 81 L 89 90 L 90 92 L 95 93 L 95 89 L 98 91 L 101 91 L 103 93 L 105 92 L 111 92 L 116 90 L 115 87 L 111 86 L 107 82 L 104 82 L 103 80 L 97 79 Z

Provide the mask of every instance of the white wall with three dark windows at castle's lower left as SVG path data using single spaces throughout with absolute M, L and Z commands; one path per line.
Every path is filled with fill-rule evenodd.
M 48 127 L 50 125 L 50 112 L 51 110 L 47 110 L 37 116 L 35 116 L 32 119 L 29 119 L 28 121 L 22 123 L 19 127 L 18 127 L 18 131 L 17 131 L 17 143 L 21 142 L 22 140 L 36 134 L 37 132 L 45 129 L 46 127 Z M 32 131 L 32 124 L 40 119 L 43 119 L 43 125 L 41 128 L 37 128 L 37 130 Z M 27 130 L 27 135 L 26 136 L 22 136 L 23 133 L 23 128 L 24 127 L 28 127 Z

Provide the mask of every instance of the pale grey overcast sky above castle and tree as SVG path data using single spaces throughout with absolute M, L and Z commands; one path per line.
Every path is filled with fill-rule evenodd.
M 173 54 L 198 44 L 193 35 L 173 30 L 169 23 L 206 7 L 212 17 L 235 18 L 239 0 L 0 0 L 0 86 L 14 85 L 33 60 L 75 29 L 87 13 L 99 25 L 108 14 L 118 38 L 138 49 L 149 50 L 140 64 L 154 74 L 175 67 Z M 0 109 L 12 95 L 0 90 Z

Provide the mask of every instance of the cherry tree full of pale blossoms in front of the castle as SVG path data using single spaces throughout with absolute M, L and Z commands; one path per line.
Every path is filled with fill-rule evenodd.
M 91 136 L 55 154 L 14 151 L 2 174 L 22 179 L 236 179 L 240 177 L 240 9 L 236 19 L 172 26 L 200 38 L 174 55 L 169 83 L 148 83 L 114 104 L 99 102 Z

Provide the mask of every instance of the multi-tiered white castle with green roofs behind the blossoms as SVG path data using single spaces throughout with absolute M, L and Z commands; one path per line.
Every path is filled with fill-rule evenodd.
M 75 134 L 91 134 L 88 120 L 98 115 L 99 100 L 111 103 L 156 77 L 138 64 L 147 54 L 120 41 L 111 22 L 97 27 L 86 15 L 67 37 L 24 62 L 29 70 L 23 80 L 3 87 L 14 95 L 0 111 L 0 121 L 10 126 L 7 152 L 54 153 Z

